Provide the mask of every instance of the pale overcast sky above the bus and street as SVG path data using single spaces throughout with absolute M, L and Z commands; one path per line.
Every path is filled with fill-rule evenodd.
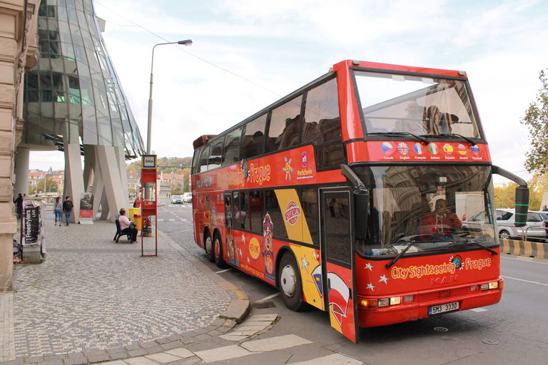
M 529 178 L 519 119 L 548 68 L 548 1 L 101 0 L 103 38 L 146 144 L 193 155 L 218 134 L 345 59 L 467 72 L 494 165 Z M 64 168 L 31 153 L 31 168 Z

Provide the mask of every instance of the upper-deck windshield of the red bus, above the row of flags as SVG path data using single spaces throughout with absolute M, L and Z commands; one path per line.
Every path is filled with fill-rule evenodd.
M 482 138 L 464 81 L 355 71 L 367 134 Z

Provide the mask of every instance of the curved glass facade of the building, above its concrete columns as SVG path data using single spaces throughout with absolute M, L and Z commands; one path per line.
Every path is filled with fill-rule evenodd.
M 81 145 L 121 147 L 126 158 L 143 140 L 101 37 L 91 0 L 42 0 L 38 64 L 25 74 L 21 143 L 68 141 L 66 123 L 78 125 Z M 72 134 L 73 135 L 73 134 Z

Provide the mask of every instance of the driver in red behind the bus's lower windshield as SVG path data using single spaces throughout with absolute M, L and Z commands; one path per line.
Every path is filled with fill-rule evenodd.
M 436 200 L 433 212 L 427 213 L 420 221 L 420 239 L 427 240 L 432 235 L 447 236 L 452 230 L 462 227 L 459 217 L 449 209 L 445 202 L 445 196 Z

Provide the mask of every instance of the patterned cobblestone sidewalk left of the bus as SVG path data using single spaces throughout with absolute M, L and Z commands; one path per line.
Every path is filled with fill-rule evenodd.
M 113 242 L 111 222 L 46 230 L 48 259 L 17 264 L 13 292 L 0 294 L 0 361 L 108 361 L 235 325 L 219 318 L 234 295 L 161 232 L 158 257 L 142 257 L 141 237 Z M 147 240 L 153 248 L 154 239 Z

